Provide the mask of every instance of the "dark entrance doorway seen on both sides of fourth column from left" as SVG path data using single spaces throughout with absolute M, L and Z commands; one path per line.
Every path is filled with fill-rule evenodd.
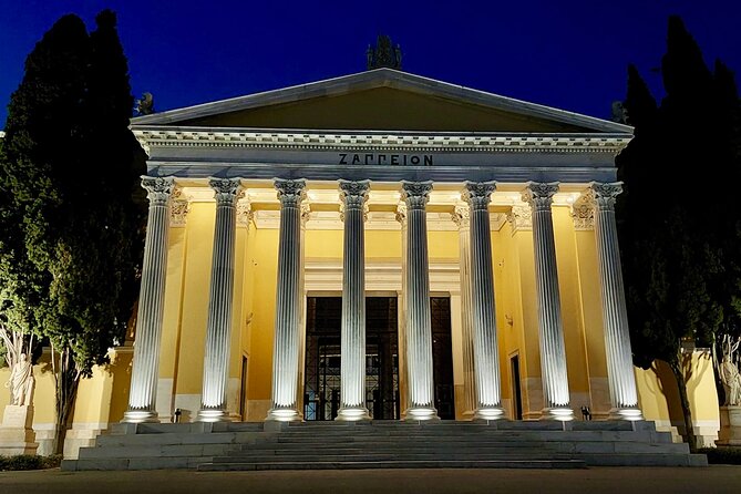
M 395 297 L 366 298 L 366 406 L 373 420 L 399 419 Z M 333 420 L 340 409 L 341 297 L 308 297 L 303 419 Z

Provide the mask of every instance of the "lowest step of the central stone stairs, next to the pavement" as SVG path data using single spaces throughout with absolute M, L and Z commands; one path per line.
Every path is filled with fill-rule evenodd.
M 302 461 L 260 463 L 203 463 L 198 472 L 257 470 L 366 470 L 366 469 L 584 469 L 580 460 L 416 460 L 416 461 Z

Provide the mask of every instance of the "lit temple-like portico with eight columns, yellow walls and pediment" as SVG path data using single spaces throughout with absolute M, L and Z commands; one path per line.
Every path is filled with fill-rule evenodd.
M 369 419 L 373 294 L 398 298 L 405 420 L 439 418 L 432 296 L 456 418 L 513 418 L 513 357 L 526 419 L 641 418 L 614 215 L 630 127 L 379 69 L 132 128 L 151 213 L 125 421 L 302 420 L 306 300 L 326 295 L 337 419 Z

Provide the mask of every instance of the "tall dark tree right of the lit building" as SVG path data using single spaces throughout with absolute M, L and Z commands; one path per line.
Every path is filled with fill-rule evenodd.
M 636 137 L 618 159 L 628 192 L 618 208 L 620 244 L 634 360 L 642 368 L 657 359 L 669 366 L 696 449 L 680 340 L 710 344 L 733 312 L 728 284 L 739 280 L 739 258 L 731 254 L 738 244 L 727 238 L 739 214 L 729 210 L 727 194 L 698 202 L 688 184 L 713 191 L 738 173 L 729 103 L 738 106 L 738 96 L 728 72 L 708 70 L 678 17 L 669 19 L 661 74 L 666 96 L 657 109 L 638 71 L 628 71 L 625 105 Z

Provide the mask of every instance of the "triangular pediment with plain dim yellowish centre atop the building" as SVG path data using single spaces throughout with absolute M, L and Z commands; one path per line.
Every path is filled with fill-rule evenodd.
M 378 69 L 172 110 L 134 125 L 337 131 L 632 133 L 590 116 Z

